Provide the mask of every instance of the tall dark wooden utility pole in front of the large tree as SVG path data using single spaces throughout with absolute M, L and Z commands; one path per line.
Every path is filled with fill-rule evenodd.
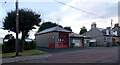
M 16 0 L 16 56 L 18 56 L 18 33 L 19 33 L 19 11 L 18 11 L 18 0 Z

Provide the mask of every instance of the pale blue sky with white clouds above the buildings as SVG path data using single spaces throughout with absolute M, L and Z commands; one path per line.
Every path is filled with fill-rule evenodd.
M 6 1 L 6 3 L 4 3 Z M 57 24 L 70 26 L 75 33 L 79 33 L 80 28 L 85 26 L 88 30 L 91 24 L 96 22 L 97 27 L 106 28 L 118 22 L 118 1 L 119 0 L 57 0 L 66 5 L 60 4 L 55 0 L 19 0 L 19 8 L 28 8 L 41 14 L 42 21 L 51 21 Z M 1 29 L 7 12 L 15 10 L 15 0 L 0 0 L 0 38 L 6 34 L 15 33 Z M 83 12 L 85 11 L 85 12 Z M 95 14 L 91 15 L 89 13 Z M 42 23 L 42 22 L 41 22 Z M 40 23 L 40 24 L 41 24 Z M 29 32 L 30 38 L 34 39 L 34 34 L 38 30 L 34 29 Z M 19 34 L 19 37 L 21 35 Z

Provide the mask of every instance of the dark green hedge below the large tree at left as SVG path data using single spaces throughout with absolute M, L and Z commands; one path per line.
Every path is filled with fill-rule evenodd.
M 19 42 L 19 51 L 20 51 L 22 47 L 22 40 L 18 40 L 18 42 Z M 24 50 L 31 50 L 31 49 L 36 49 L 35 41 L 31 41 L 31 42 L 25 41 Z M 8 42 L 2 44 L 3 53 L 9 53 L 14 51 L 15 51 L 15 39 L 9 40 Z

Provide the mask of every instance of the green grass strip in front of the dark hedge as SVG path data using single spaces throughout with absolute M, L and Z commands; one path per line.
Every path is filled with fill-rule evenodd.
M 39 51 L 39 50 L 27 50 L 24 52 L 19 52 L 19 56 L 39 55 L 39 54 L 44 54 L 44 53 L 46 52 Z M 2 54 L 2 58 L 10 58 L 10 57 L 15 57 L 15 52 Z

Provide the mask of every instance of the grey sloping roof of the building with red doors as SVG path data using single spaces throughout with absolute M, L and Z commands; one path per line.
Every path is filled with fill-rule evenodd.
M 45 29 L 39 33 L 36 33 L 36 34 L 43 34 L 43 33 L 48 33 L 48 32 L 53 32 L 53 31 L 58 31 L 58 32 L 71 32 L 71 31 L 68 31 L 66 29 L 63 29 L 59 26 L 55 26 L 55 27 L 52 27 L 52 28 L 49 28 L 49 29 Z

